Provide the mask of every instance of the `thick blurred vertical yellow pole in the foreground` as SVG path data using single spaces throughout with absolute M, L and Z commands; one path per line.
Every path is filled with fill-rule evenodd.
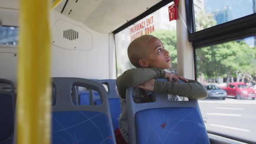
M 17 144 L 50 144 L 50 0 L 20 0 Z

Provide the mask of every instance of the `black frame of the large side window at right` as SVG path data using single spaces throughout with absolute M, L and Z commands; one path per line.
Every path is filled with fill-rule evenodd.
M 209 27 L 196 32 L 195 17 L 194 17 L 194 0 L 186 0 L 187 24 L 191 23 L 190 33 L 188 31 L 188 39 L 192 43 L 194 49 L 194 76 L 197 80 L 197 64 L 196 64 L 196 49 L 201 49 L 205 46 L 212 46 L 220 43 L 225 43 L 237 39 L 242 39 L 248 36 L 256 36 L 256 13 L 240 17 L 235 20 L 228 21 L 216 26 Z M 188 14 L 192 13 L 192 14 Z M 193 27 L 194 26 L 194 27 Z M 220 134 L 213 131 L 208 131 L 209 134 L 219 135 L 221 137 L 230 138 L 236 141 L 252 143 L 245 139 L 240 139 L 226 134 Z

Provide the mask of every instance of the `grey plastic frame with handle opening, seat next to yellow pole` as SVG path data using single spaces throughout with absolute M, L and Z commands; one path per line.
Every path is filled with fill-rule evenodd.
M 53 83 L 56 88 L 56 105 L 53 106 L 54 111 L 99 111 L 105 113 L 110 123 L 112 138 L 114 144 L 115 133 L 112 124 L 110 107 L 108 103 L 107 92 L 101 83 L 82 78 L 53 78 Z M 102 105 L 74 105 L 71 98 L 73 86 L 81 86 L 97 91 L 102 100 Z

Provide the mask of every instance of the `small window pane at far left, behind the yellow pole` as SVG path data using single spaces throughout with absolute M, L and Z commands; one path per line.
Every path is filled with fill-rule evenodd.
M 0 26 L 0 45 L 17 45 L 18 28 L 12 26 Z

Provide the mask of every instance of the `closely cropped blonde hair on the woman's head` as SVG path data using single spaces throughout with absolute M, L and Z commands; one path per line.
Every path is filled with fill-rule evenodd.
M 128 57 L 132 65 L 136 68 L 141 67 L 139 60 L 147 56 L 147 49 L 144 46 L 149 39 L 156 38 L 152 35 L 143 35 L 134 39 L 128 46 Z

